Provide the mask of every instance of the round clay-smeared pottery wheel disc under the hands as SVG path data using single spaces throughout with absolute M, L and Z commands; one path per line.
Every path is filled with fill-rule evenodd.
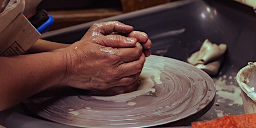
M 161 72 L 161 83 L 153 80 L 156 91 L 130 101 L 102 101 L 79 94 L 33 97 L 24 105 L 45 119 L 66 125 L 149 127 L 188 119 L 214 100 L 216 91 L 211 77 L 188 63 L 151 55 L 142 72 L 150 70 Z M 135 104 L 129 105 L 131 102 Z

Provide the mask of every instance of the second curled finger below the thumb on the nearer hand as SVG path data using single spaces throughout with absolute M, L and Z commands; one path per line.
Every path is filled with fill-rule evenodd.
M 145 63 L 145 55 L 144 53 L 141 54 L 139 60 L 132 61 L 129 63 L 122 63 L 116 68 L 116 71 L 119 72 L 120 78 L 134 75 L 138 72 L 142 71 L 142 68 Z

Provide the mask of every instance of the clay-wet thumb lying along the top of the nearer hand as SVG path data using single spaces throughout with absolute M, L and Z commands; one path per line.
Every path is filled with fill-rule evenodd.
M 97 43 L 106 47 L 134 47 L 137 43 L 136 38 L 124 37 L 120 35 L 108 35 L 108 36 L 100 36 L 92 39 L 93 43 Z

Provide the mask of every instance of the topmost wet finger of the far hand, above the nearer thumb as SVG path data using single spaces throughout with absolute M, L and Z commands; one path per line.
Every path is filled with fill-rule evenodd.
M 92 28 L 97 28 L 97 31 L 102 35 L 110 35 L 111 33 L 130 33 L 134 28 L 119 21 L 101 22 L 92 25 Z

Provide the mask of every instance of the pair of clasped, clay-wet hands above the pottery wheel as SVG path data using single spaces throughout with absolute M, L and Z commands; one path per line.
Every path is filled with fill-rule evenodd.
M 62 84 L 84 90 L 132 91 L 150 56 L 144 32 L 118 21 L 93 24 L 80 41 L 63 48 L 67 70 Z

